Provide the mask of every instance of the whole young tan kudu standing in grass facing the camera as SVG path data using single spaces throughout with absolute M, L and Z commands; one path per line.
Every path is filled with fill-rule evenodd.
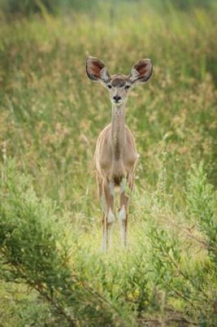
M 130 89 L 136 83 L 145 83 L 152 75 L 152 62 L 149 59 L 138 61 L 129 76 L 110 76 L 104 63 L 94 57 L 87 59 L 87 76 L 99 82 L 110 92 L 112 101 L 112 123 L 107 125 L 96 141 L 95 166 L 99 186 L 99 196 L 103 207 L 103 242 L 111 244 L 114 222 L 114 188 L 120 189 L 120 220 L 123 244 L 127 242 L 127 207 L 134 187 L 134 172 L 138 154 L 132 132 L 125 125 L 125 104 Z M 127 191 L 129 189 L 129 191 Z

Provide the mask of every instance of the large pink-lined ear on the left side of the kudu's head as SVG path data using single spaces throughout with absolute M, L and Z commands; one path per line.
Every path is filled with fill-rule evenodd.
M 106 83 L 110 79 L 110 75 L 107 72 L 103 61 L 89 56 L 86 62 L 87 76 L 94 82 Z

